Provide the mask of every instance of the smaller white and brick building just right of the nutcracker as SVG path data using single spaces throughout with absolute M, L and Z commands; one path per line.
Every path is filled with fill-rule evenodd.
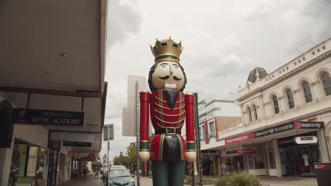
M 241 123 L 240 107 L 235 101 L 200 101 L 199 137 L 204 175 L 220 175 L 221 156 L 215 148 L 219 146 L 219 132 L 236 127 Z

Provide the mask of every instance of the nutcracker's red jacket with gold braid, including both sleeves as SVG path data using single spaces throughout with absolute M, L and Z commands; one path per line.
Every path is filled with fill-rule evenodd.
M 184 94 L 178 92 L 175 98 L 175 104 L 169 105 L 165 99 L 165 92 L 158 90 L 153 93 L 140 92 L 140 151 L 150 151 L 151 161 L 163 161 L 167 159 L 164 156 L 173 156 L 173 154 L 165 154 L 163 145 L 167 137 L 172 135 L 175 139 L 175 144 L 180 148 L 180 160 L 185 161 L 186 151 L 194 151 L 194 94 Z M 173 107 L 173 108 L 171 108 Z M 172 132 L 177 129 L 181 130 L 182 125 L 186 120 L 186 143 L 179 134 L 158 134 L 151 140 L 151 149 L 149 150 L 149 114 L 151 122 L 155 130 L 171 129 Z

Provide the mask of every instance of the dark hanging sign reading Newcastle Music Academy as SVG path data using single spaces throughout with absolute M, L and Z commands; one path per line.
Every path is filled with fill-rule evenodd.
M 29 125 L 83 126 L 84 112 L 13 109 L 12 123 Z

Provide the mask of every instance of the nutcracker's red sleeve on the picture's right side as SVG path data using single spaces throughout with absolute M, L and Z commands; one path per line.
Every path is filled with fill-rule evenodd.
M 194 143 L 194 94 L 185 95 L 186 142 Z M 189 149 L 187 147 L 187 149 Z

